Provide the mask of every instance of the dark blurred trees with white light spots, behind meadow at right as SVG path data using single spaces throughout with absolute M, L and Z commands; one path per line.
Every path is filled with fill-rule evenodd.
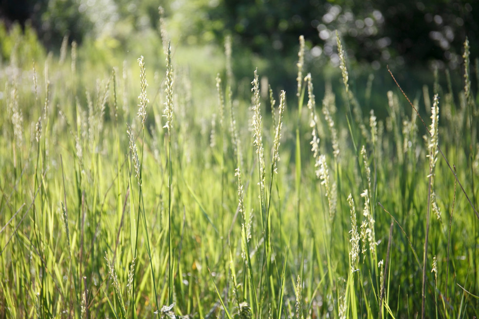
M 479 53 L 479 1 L 223 0 L 206 10 L 240 46 L 263 55 L 271 54 L 271 47 L 291 55 L 302 34 L 316 55 L 335 64 L 335 30 L 351 58 L 375 66 L 440 60 L 455 68 L 466 36 L 473 56 Z M 223 37 L 224 29 L 214 31 Z

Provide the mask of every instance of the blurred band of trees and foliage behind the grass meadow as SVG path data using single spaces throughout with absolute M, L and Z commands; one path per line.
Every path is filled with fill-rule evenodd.
M 31 26 L 47 52 L 58 53 L 68 35 L 90 47 L 87 54 L 98 62 L 117 63 L 118 57 L 121 63 L 128 54 L 162 53 L 159 6 L 173 46 L 221 51 L 231 35 L 236 77 L 251 78 L 258 67 L 279 89 L 295 86 L 299 35 L 306 38 L 306 63 L 316 78 L 339 63 L 336 30 L 349 63 L 360 66 L 358 78 L 361 70 L 366 79 L 386 65 L 420 83 L 432 66 L 460 72 L 466 36 L 471 56 L 479 53 L 479 1 L 0 0 L 0 19 L 6 30 L 16 21 Z M 3 44 L 2 59 L 8 48 Z

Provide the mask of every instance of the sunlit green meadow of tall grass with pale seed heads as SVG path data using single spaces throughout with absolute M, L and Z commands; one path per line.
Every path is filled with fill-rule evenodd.
M 342 81 L 314 96 L 299 47 L 297 90 L 251 70 L 251 100 L 227 41 L 216 80 L 167 46 L 110 70 L 66 43 L 3 61 L 0 318 L 478 314 L 467 45 L 461 71 L 405 92 L 419 114 L 399 88 L 351 85 L 339 38 Z

